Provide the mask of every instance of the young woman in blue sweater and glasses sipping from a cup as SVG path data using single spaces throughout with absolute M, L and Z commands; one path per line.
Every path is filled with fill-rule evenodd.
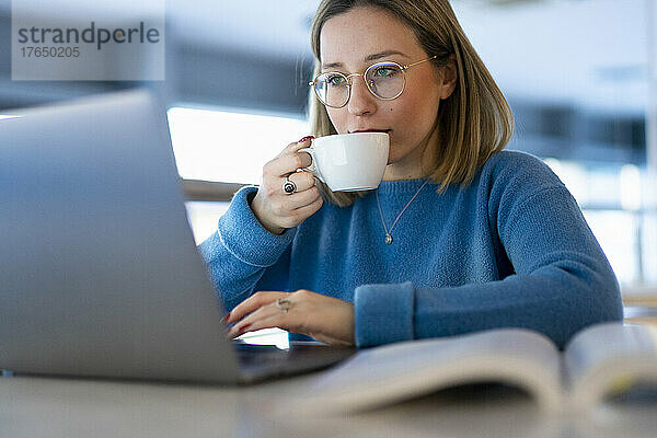
M 296 172 L 311 164 L 304 138 L 235 195 L 200 245 L 229 336 L 280 327 L 365 347 L 518 326 L 563 346 L 621 320 L 566 187 L 502 151 L 510 110 L 448 0 L 324 0 L 311 39 L 313 135 L 385 131 L 388 166 L 376 191 L 331 193 Z

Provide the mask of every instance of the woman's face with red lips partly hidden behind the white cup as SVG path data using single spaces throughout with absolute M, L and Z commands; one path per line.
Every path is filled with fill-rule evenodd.
M 403 22 L 377 8 L 354 8 L 327 20 L 320 35 L 320 47 L 322 71 L 346 74 L 362 73 L 380 61 L 403 66 L 429 57 Z M 430 149 L 423 152 L 434 134 L 440 100 L 453 91 L 453 81 L 445 81 L 445 69 L 431 62 L 411 67 L 405 74 L 404 92 L 393 101 L 374 97 L 361 77 L 353 77 L 349 102 L 342 108 L 326 107 L 338 134 L 378 130 L 390 135 L 384 180 L 427 175 L 428 161 L 436 157 Z

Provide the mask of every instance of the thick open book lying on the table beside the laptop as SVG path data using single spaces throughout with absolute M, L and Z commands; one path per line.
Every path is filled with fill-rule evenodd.
M 563 351 L 523 328 L 364 349 L 318 374 L 299 400 L 302 410 L 353 412 L 482 382 L 518 387 L 550 412 L 587 411 L 637 385 L 656 391 L 657 406 L 657 326 L 593 325 Z

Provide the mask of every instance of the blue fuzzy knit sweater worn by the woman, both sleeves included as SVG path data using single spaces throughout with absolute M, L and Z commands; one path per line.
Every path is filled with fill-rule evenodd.
M 424 180 L 384 181 L 390 228 Z M 199 246 L 227 310 L 257 290 L 309 289 L 354 302 L 358 347 L 515 326 L 560 347 L 622 319 L 618 281 L 575 199 L 540 160 L 493 155 L 466 186 L 427 184 L 385 233 L 374 193 L 322 208 L 281 235 L 234 196 Z

